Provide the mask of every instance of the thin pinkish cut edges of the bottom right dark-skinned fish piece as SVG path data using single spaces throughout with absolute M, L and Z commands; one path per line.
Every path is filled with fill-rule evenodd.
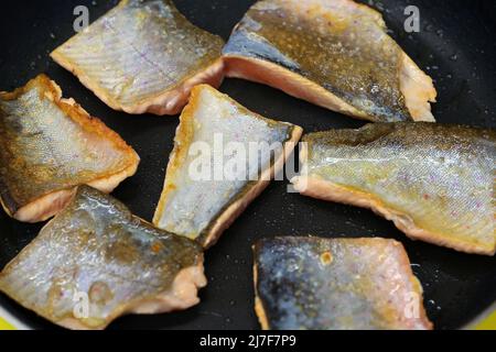
M 304 238 L 308 239 L 308 238 Z M 319 238 L 314 238 L 314 239 L 319 239 Z M 401 248 L 401 256 L 400 256 L 400 266 L 405 268 L 406 273 L 408 274 L 408 278 L 409 280 L 411 280 L 413 283 L 413 286 L 417 288 L 418 294 L 420 294 L 420 301 L 423 301 L 423 288 L 422 285 L 420 284 L 420 280 L 418 279 L 418 277 L 413 274 L 413 271 L 411 270 L 411 265 L 410 265 L 410 258 L 408 257 L 407 251 L 405 250 L 405 246 L 401 242 L 393 240 L 393 239 L 382 239 L 382 238 L 374 238 L 375 240 L 382 240 L 382 241 L 390 241 L 392 243 L 395 243 L 395 245 L 398 245 Z M 330 239 L 331 240 L 331 239 Z M 358 240 L 358 239 L 339 239 L 339 240 Z M 368 240 L 367 238 L 364 238 L 363 240 Z M 255 288 L 255 312 L 257 315 L 257 318 L 260 322 L 260 326 L 262 328 L 262 330 L 270 330 L 270 324 L 269 324 L 269 319 L 267 317 L 266 314 L 266 308 L 263 307 L 263 301 L 259 296 L 258 293 L 258 264 L 257 264 L 257 252 L 258 252 L 258 246 L 261 245 L 261 242 L 263 240 L 259 240 L 257 241 L 252 246 L 252 253 L 254 253 L 254 288 Z M 423 306 L 423 304 L 419 305 L 419 314 L 420 314 L 420 321 L 422 322 L 423 327 L 425 328 L 425 330 L 433 330 L 434 324 L 432 323 L 432 321 L 429 320 L 429 317 L 427 315 L 425 311 L 425 307 Z

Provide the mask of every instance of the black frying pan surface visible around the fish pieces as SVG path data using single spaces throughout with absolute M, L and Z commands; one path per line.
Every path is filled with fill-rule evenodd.
M 195 24 L 228 37 L 251 0 L 175 0 Z M 128 116 L 112 111 L 83 87 L 76 77 L 53 63 L 48 53 L 74 34 L 73 10 L 86 4 L 94 21 L 117 1 L 2 1 L 0 6 L 0 90 L 12 90 L 40 73 L 55 79 L 73 97 L 101 118 L 141 156 L 138 174 L 114 195 L 134 213 L 151 220 L 164 168 L 172 150 L 177 118 Z M 382 10 L 391 35 L 419 66 L 435 79 L 439 122 L 496 125 L 496 2 L 473 0 L 370 1 Z M 421 32 L 403 31 L 403 9 L 420 8 Z M 357 128 L 363 122 L 293 99 L 248 81 L 226 79 L 220 90 L 263 116 L 290 121 L 306 132 Z M 39 232 L 41 224 L 24 224 L 0 212 L 0 267 Z M 258 329 L 254 312 L 251 244 L 273 235 L 371 237 L 401 241 L 413 271 L 422 282 L 425 307 L 438 329 L 461 328 L 496 299 L 496 260 L 408 240 L 395 226 L 370 211 L 319 201 L 285 191 L 274 182 L 206 253 L 208 286 L 202 304 L 187 311 L 129 316 L 118 328 Z M 0 295 L 0 306 L 33 328 L 53 324 Z

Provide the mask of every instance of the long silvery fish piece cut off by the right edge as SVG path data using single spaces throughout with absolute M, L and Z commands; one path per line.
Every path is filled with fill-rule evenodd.
M 414 240 L 494 255 L 496 132 L 425 122 L 305 135 L 303 195 L 370 208 Z

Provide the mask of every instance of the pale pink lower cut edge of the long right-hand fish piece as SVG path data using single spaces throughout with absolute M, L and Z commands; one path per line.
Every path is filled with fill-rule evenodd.
M 305 145 L 301 146 L 300 161 L 303 165 L 308 162 L 308 146 Z M 315 176 L 296 176 L 291 179 L 291 183 L 294 189 L 304 196 L 370 209 L 375 213 L 392 221 L 411 240 L 421 240 L 471 254 L 495 255 L 496 253 L 496 244 L 493 249 L 485 249 L 466 241 L 446 239 L 442 233 L 421 229 L 416 226 L 409 215 L 388 207 L 374 195 L 336 185 Z

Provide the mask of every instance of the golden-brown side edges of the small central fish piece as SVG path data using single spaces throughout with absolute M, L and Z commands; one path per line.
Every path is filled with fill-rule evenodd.
M 181 167 L 180 163 L 184 161 L 187 155 L 187 145 L 188 141 L 193 135 L 193 125 L 192 121 L 194 120 L 194 113 L 197 110 L 197 105 L 200 103 L 200 90 L 201 86 L 197 86 L 193 89 L 191 99 L 188 105 L 184 108 L 181 118 L 180 125 L 176 132 L 176 142 L 174 143 L 174 148 L 170 155 L 169 164 L 166 167 L 165 175 L 172 174 L 175 169 Z M 238 106 L 242 110 L 247 110 L 240 103 L 224 95 L 219 91 L 215 91 L 216 95 L 220 97 L 227 97 L 229 101 Z M 268 120 L 252 111 L 250 113 L 259 117 L 260 119 Z M 283 122 L 281 122 L 283 123 Z M 230 224 L 239 217 L 242 211 L 248 207 L 248 205 L 257 198 L 263 189 L 270 184 L 270 180 L 274 177 L 277 173 L 279 173 L 284 166 L 285 161 L 291 156 L 291 153 L 295 146 L 295 144 L 300 141 L 301 135 L 303 133 L 303 129 L 298 125 L 291 125 L 291 131 L 289 138 L 284 141 L 284 147 L 280 155 L 280 157 L 273 161 L 270 167 L 266 168 L 259 176 L 258 180 L 249 182 L 245 189 L 240 193 L 236 200 L 234 200 L 228 206 L 220 209 L 220 211 L 216 215 L 216 219 L 208 226 L 207 229 L 203 231 L 196 239 L 205 249 L 214 245 L 219 239 L 220 234 L 230 227 Z M 165 176 L 166 179 L 166 176 Z M 163 212 L 163 208 L 165 206 L 165 200 L 170 191 L 173 188 L 168 186 L 164 180 L 164 188 L 162 190 L 162 195 L 159 200 L 159 205 L 157 206 L 157 210 L 153 217 L 153 223 L 157 226 L 160 221 L 160 216 Z

